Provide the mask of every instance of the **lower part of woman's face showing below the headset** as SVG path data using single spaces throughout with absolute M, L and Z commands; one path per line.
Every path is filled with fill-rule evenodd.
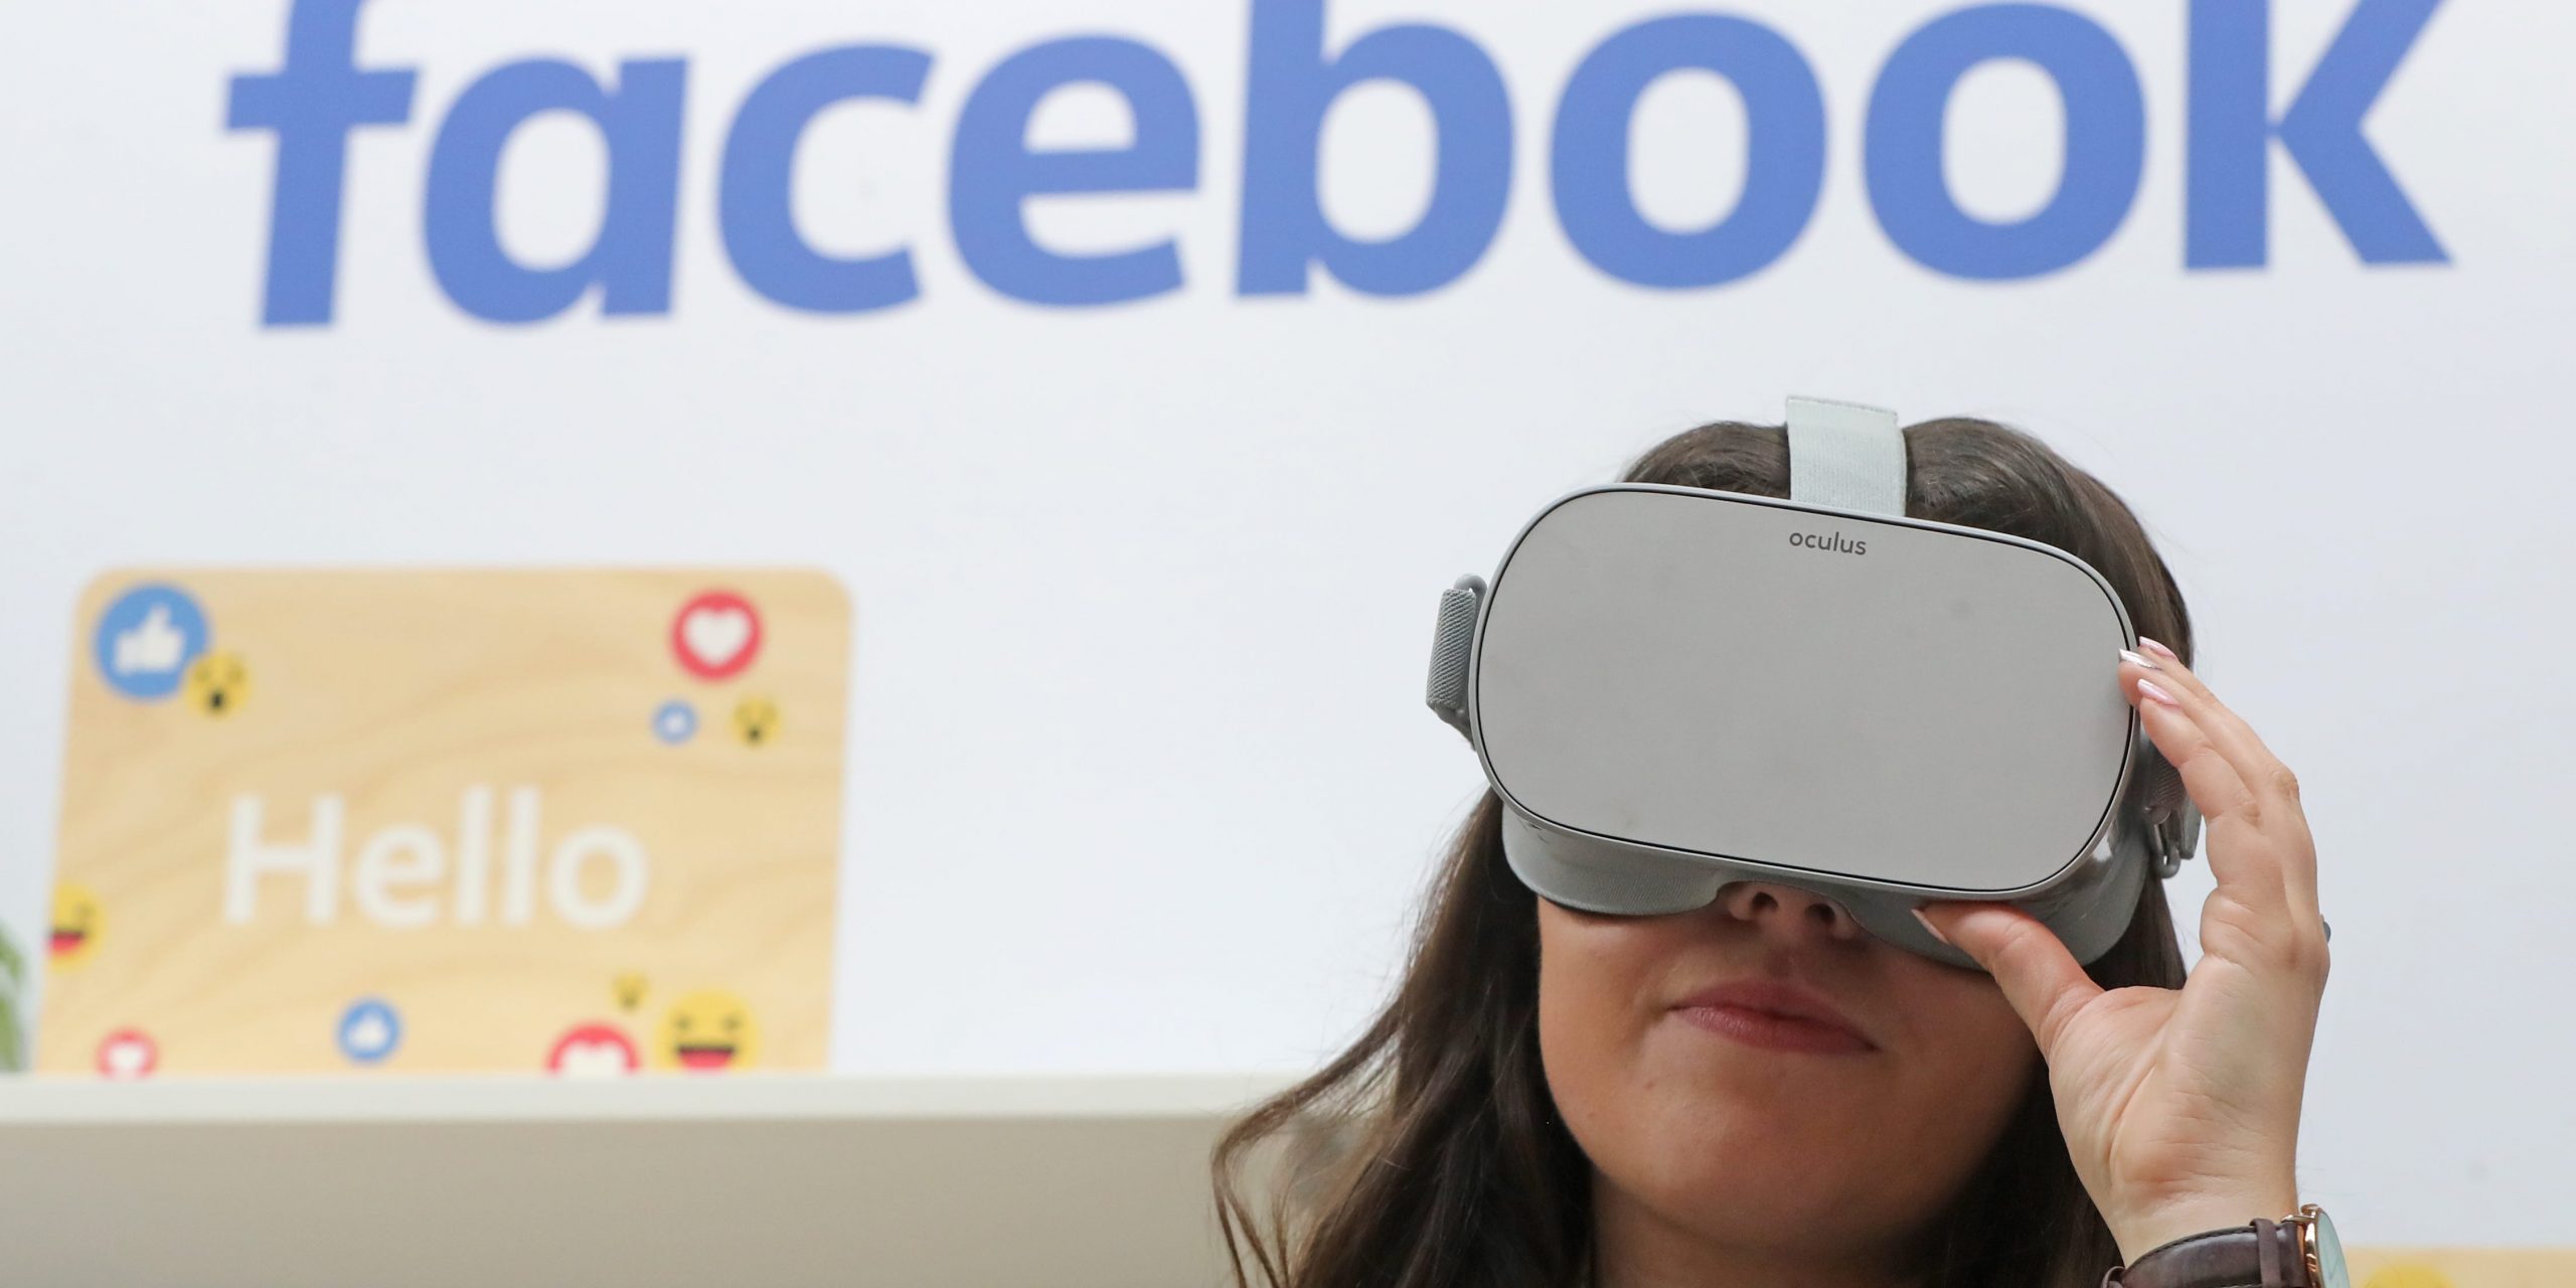
M 1899 1255 L 2038 1072 L 1994 979 L 1793 886 L 1744 881 L 1669 917 L 1538 899 L 1538 1048 L 1605 1236 L 1623 1221 L 1731 1249 Z

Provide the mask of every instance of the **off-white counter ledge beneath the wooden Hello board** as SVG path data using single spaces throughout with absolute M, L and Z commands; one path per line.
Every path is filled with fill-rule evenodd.
M 0 1079 L 0 1280 L 1213 1285 L 1288 1079 Z

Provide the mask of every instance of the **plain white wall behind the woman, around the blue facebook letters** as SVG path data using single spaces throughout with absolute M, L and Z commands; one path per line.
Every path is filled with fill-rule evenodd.
M 2367 137 L 2447 263 L 2362 263 L 2282 147 L 2269 258 L 2184 265 L 2187 5 L 2076 5 L 2143 85 L 2138 196 L 2056 273 L 1968 281 L 1901 252 L 1862 183 L 1870 85 L 1958 3 L 1734 5 L 1826 103 L 1824 188 L 1765 270 L 1646 289 L 1569 245 L 1548 121 L 1602 36 L 1662 13 L 1340 0 L 1327 44 L 1437 21 L 1499 67 L 1510 206 L 1455 281 L 1234 289 L 1249 3 L 376 0 L 358 64 L 415 67 L 410 124 L 353 134 L 330 325 L 263 327 L 276 137 L 227 131 L 286 5 L 23 5 L 0 54 L 0 920 L 44 917 L 70 608 L 137 562 L 817 564 L 855 600 L 835 1061 L 868 1072 L 1298 1069 L 1381 999 L 1437 840 L 1481 786 L 1422 708 L 1437 592 L 1538 502 L 1664 433 L 1811 392 L 1989 415 L 2123 492 L 2174 564 L 2213 685 L 2300 773 L 2336 927 L 2303 1172 L 2357 1239 L 2576 1242 L 2576 1061 L 2558 778 L 2576 729 L 2563 595 L 2576 440 L 2566 5 L 2452 0 Z M 2372 5 L 2375 8 L 2375 5 Z M 2272 100 L 2354 13 L 2285 0 Z M 1038 307 L 948 224 L 948 144 L 1030 44 L 1151 44 L 1195 100 L 1198 183 L 1051 196 L 1059 250 L 1172 237 L 1177 291 Z M 920 299 L 770 304 L 719 234 L 719 155 L 773 67 L 930 54 L 917 106 L 837 106 L 796 155 L 829 255 L 909 247 Z M 688 62 L 667 312 L 598 296 L 471 317 L 422 252 L 430 144 L 492 67 Z M 1422 211 L 1422 98 L 1363 85 L 1321 134 L 1358 237 Z M 1638 106 L 1633 185 L 1721 216 L 1747 113 L 1716 77 Z M 1115 144 L 1064 90 L 1038 144 Z M 1960 206 L 2058 183 L 2061 106 L 2022 62 L 1947 113 Z M 541 116 L 500 234 L 577 258 L 603 147 Z M 2205 866 L 2174 884 L 2190 920 Z

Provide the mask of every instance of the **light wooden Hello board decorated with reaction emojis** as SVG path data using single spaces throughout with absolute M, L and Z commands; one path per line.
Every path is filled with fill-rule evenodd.
M 822 1069 L 819 572 L 118 572 L 77 611 L 39 1072 Z

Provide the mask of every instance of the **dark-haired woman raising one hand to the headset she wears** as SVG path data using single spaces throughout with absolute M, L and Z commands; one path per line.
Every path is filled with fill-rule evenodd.
M 2154 657 L 2115 672 L 2200 806 L 2218 891 L 2190 981 L 2164 889 L 2089 969 L 2009 904 L 1919 917 L 1986 971 L 1744 881 L 1605 917 L 1504 866 L 1468 814 L 1401 987 L 1216 1151 L 1236 1283 L 1275 1288 L 2094 1288 L 2146 1249 L 2298 1208 L 2326 938 L 2298 783 L 2197 675 L 2164 559 L 2107 487 L 1984 420 L 1906 430 L 1906 513 L 2071 551 Z M 1703 425 L 1628 482 L 1788 495 L 1780 428 Z M 2159 639 L 2172 647 L 2156 644 Z M 1837 1018 L 1695 1010 L 1788 979 Z M 1770 1041 L 1728 1041 L 1770 1025 Z M 1296 1175 L 1255 1213 L 1257 1146 Z

